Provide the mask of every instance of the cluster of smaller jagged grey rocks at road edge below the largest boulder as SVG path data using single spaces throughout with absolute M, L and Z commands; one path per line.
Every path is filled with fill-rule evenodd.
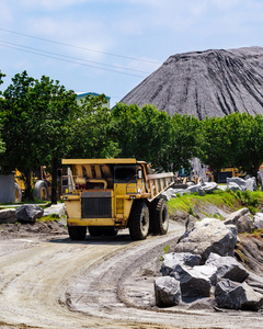
M 190 252 L 164 256 L 164 276 L 155 282 L 157 306 L 169 307 L 182 300 L 210 297 L 210 303 L 216 302 L 220 308 L 262 308 L 263 295 L 244 282 L 249 272 L 235 258 L 210 253 L 204 265 L 199 264 L 201 259 Z

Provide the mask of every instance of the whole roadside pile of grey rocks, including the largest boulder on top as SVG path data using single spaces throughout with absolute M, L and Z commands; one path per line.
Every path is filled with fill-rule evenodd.
M 163 256 L 163 276 L 155 282 L 157 306 L 208 298 L 220 308 L 261 309 L 262 279 L 233 258 L 238 232 L 252 228 L 249 211 L 243 208 L 225 222 L 205 218 L 186 229 L 174 252 Z

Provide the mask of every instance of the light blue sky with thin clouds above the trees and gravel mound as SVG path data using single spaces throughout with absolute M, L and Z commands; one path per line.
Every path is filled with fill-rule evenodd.
M 105 93 L 113 106 L 171 55 L 263 46 L 262 0 L 2 0 L 0 69 Z

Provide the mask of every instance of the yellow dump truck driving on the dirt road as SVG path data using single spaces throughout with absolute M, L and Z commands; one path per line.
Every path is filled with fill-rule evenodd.
M 150 173 L 136 159 L 64 159 L 62 200 L 72 240 L 91 236 L 115 236 L 129 228 L 134 240 L 149 231 L 165 235 L 169 226 L 167 202 L 161 193 L 174 183 L 172 172 Z

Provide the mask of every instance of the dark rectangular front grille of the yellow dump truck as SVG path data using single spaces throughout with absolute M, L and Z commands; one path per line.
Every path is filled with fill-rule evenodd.
M 83 192 L 81 218 L 112 218 L 111 192 Z

